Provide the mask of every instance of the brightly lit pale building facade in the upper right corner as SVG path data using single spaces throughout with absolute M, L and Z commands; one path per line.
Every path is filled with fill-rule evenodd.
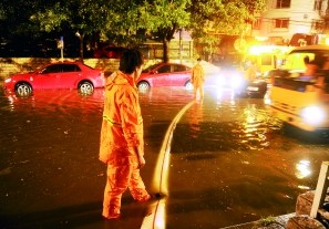
M 267 37 L 275 43 L 288 44 L 295 34 L 326 34 L 328 2 L 329 0 L 267 0 L 267 9 L 254 23 L 251 35 Z M 302 39 L 298 40 L 300 45 L 309 44 Z

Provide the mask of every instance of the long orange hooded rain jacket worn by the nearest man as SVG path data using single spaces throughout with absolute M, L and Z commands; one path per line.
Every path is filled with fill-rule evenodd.
M 133 147 L 143 146 L 143 118 L 133 79 L 115 72 L 106 80 L 100 160 L 126 165 L 136 160 Z

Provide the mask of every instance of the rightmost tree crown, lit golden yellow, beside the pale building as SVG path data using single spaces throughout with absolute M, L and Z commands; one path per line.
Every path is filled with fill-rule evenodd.
M 244 37 L 246 24 L 256 20 L 265 10 L 265 0 L 192 0 L 188 29 L 197 43 L 208 46 L 218 44 L 218 34 Z

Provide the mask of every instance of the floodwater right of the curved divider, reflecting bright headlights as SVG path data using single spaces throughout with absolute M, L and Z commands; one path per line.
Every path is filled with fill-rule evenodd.
M 294 212 L 297 196 L 316 188 L 328 140 L 307 143 L 310 136 L 284 128 L 263 100 L 208 95 L 174 134 L 168 228 L 222 228 Z

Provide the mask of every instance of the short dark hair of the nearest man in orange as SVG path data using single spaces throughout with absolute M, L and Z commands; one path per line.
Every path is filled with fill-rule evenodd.
M 132 74 L 135 69 L 142 66 L 144 59 L 142 53 L 136 49 L 127 49 L 120 59 L 119 70 L 126 74 Z

